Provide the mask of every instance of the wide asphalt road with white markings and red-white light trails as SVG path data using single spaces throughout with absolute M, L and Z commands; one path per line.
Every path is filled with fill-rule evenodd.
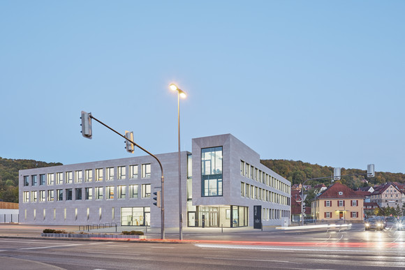
M 198 238 L 197 235 L 187 235 Z M 405 232 L 272 231 L 199 236 L 185 243 L 0 239 L 0 269 L 13 257 L 34 269 L 404 269 Z M 208 239 L 209 238 L 209 239 Z M 27 261 L 23 261 L 27 262 Z M 38 267 L 38 268 L 36 268 Z M 52 268 L 51 268 L 52 269 Z

